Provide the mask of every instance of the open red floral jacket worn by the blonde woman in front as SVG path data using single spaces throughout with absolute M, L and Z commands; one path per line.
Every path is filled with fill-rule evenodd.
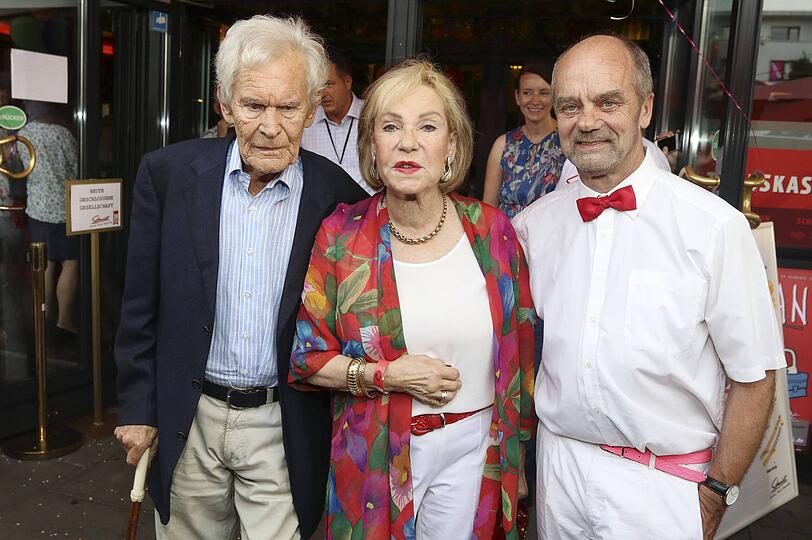
M 494 328 L 491 437 L 472 537 L 493 535 L 501 508 L 507 538 L 514 527 L 519 441 L 533 417 L 533 310 L 521 248 L 507 217 L 458 195 L 451 200 L 485 275 Z M 381 195 L 339 205 L 313 246 L 296 322 L 290 382 L 305 379 L 338 354 L 368 361 L 406 352 Z M 333 436 L 327 483 L 327 538 L 415 537 L 409 438 L 412 398 L 404 393 L 356 398 L 333 395 Z

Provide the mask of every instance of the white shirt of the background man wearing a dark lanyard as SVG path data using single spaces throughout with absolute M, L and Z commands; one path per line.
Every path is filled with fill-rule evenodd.
M 302 148 L 340 165 L 359 186 L 372 195 L 375 190 L 366 183 L 358 165 L 358 119 L 363 106 L 364 100 L 353 94 L 350 110 L 341 119 L 341 123 L 336 124 L 327 118 L 319 105 L 313 123 L 302 135 Z

